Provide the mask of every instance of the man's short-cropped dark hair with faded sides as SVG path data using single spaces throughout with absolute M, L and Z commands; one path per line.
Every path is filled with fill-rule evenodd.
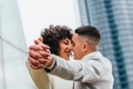
M 82 26 L 75 29 L 75 33 L 78 33 L 79 36 L 91 38 L 96 43 L 99 43 L 101 40 L 99 30 L 93 26 Z

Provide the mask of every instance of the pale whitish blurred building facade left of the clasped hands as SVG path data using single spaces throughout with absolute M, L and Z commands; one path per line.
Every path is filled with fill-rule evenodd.
M 33 89 L 17 0 L 0 0 L 0 89 Z

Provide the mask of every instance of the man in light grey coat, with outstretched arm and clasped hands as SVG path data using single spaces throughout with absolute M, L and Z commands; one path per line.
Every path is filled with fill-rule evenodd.
M 72 36 L 75 61 L 51 55 L 47 51 L 49 48 L 40 42 L 30 48 L 29 57 L 32 59 L 29 58 L 29 63 L 33 69 L 44 69 L 48 73 L 73 80 L 73 89 L 113 89 L 112 65 L 98 50 L 100 40 L 95 27 L 83 26 L 75 29 Z M 39 51 L 34 52 L 37 48 Z

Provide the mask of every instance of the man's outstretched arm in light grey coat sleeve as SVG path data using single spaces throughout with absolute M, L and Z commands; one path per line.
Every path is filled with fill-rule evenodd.
M 58 56 L 53 56 L 53 58 L 57 62 L 54 69 L 45 70 L 51 75 L 81 82 L 93 82 L 100 77 L 100 70 L 94 68 L 91 61 L 66 61 Z

